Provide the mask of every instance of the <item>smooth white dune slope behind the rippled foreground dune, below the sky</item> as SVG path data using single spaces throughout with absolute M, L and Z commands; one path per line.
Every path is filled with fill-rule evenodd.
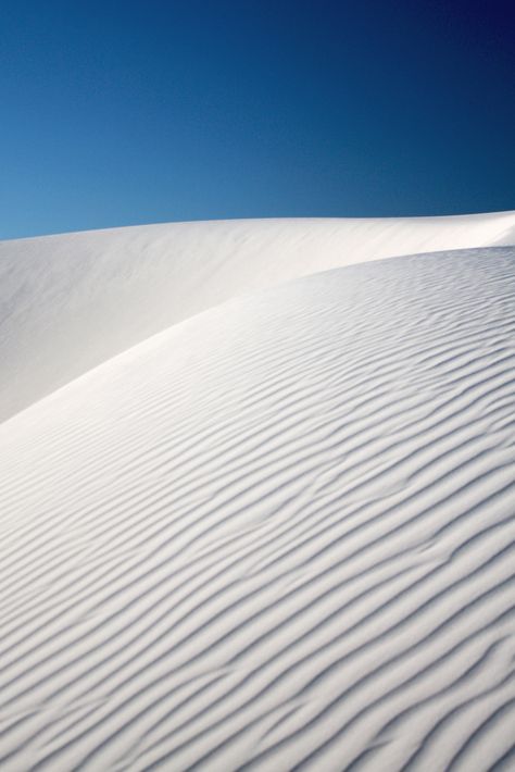
M 370 259 L 515 244 L 515 213 L 241 220 L 0 242 L 0 420 L 233 297 Z

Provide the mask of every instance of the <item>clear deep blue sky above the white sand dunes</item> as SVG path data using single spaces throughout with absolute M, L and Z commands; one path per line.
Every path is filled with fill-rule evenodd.
M 0 0 L 0 238 L 515 208 L 513 0 Z

